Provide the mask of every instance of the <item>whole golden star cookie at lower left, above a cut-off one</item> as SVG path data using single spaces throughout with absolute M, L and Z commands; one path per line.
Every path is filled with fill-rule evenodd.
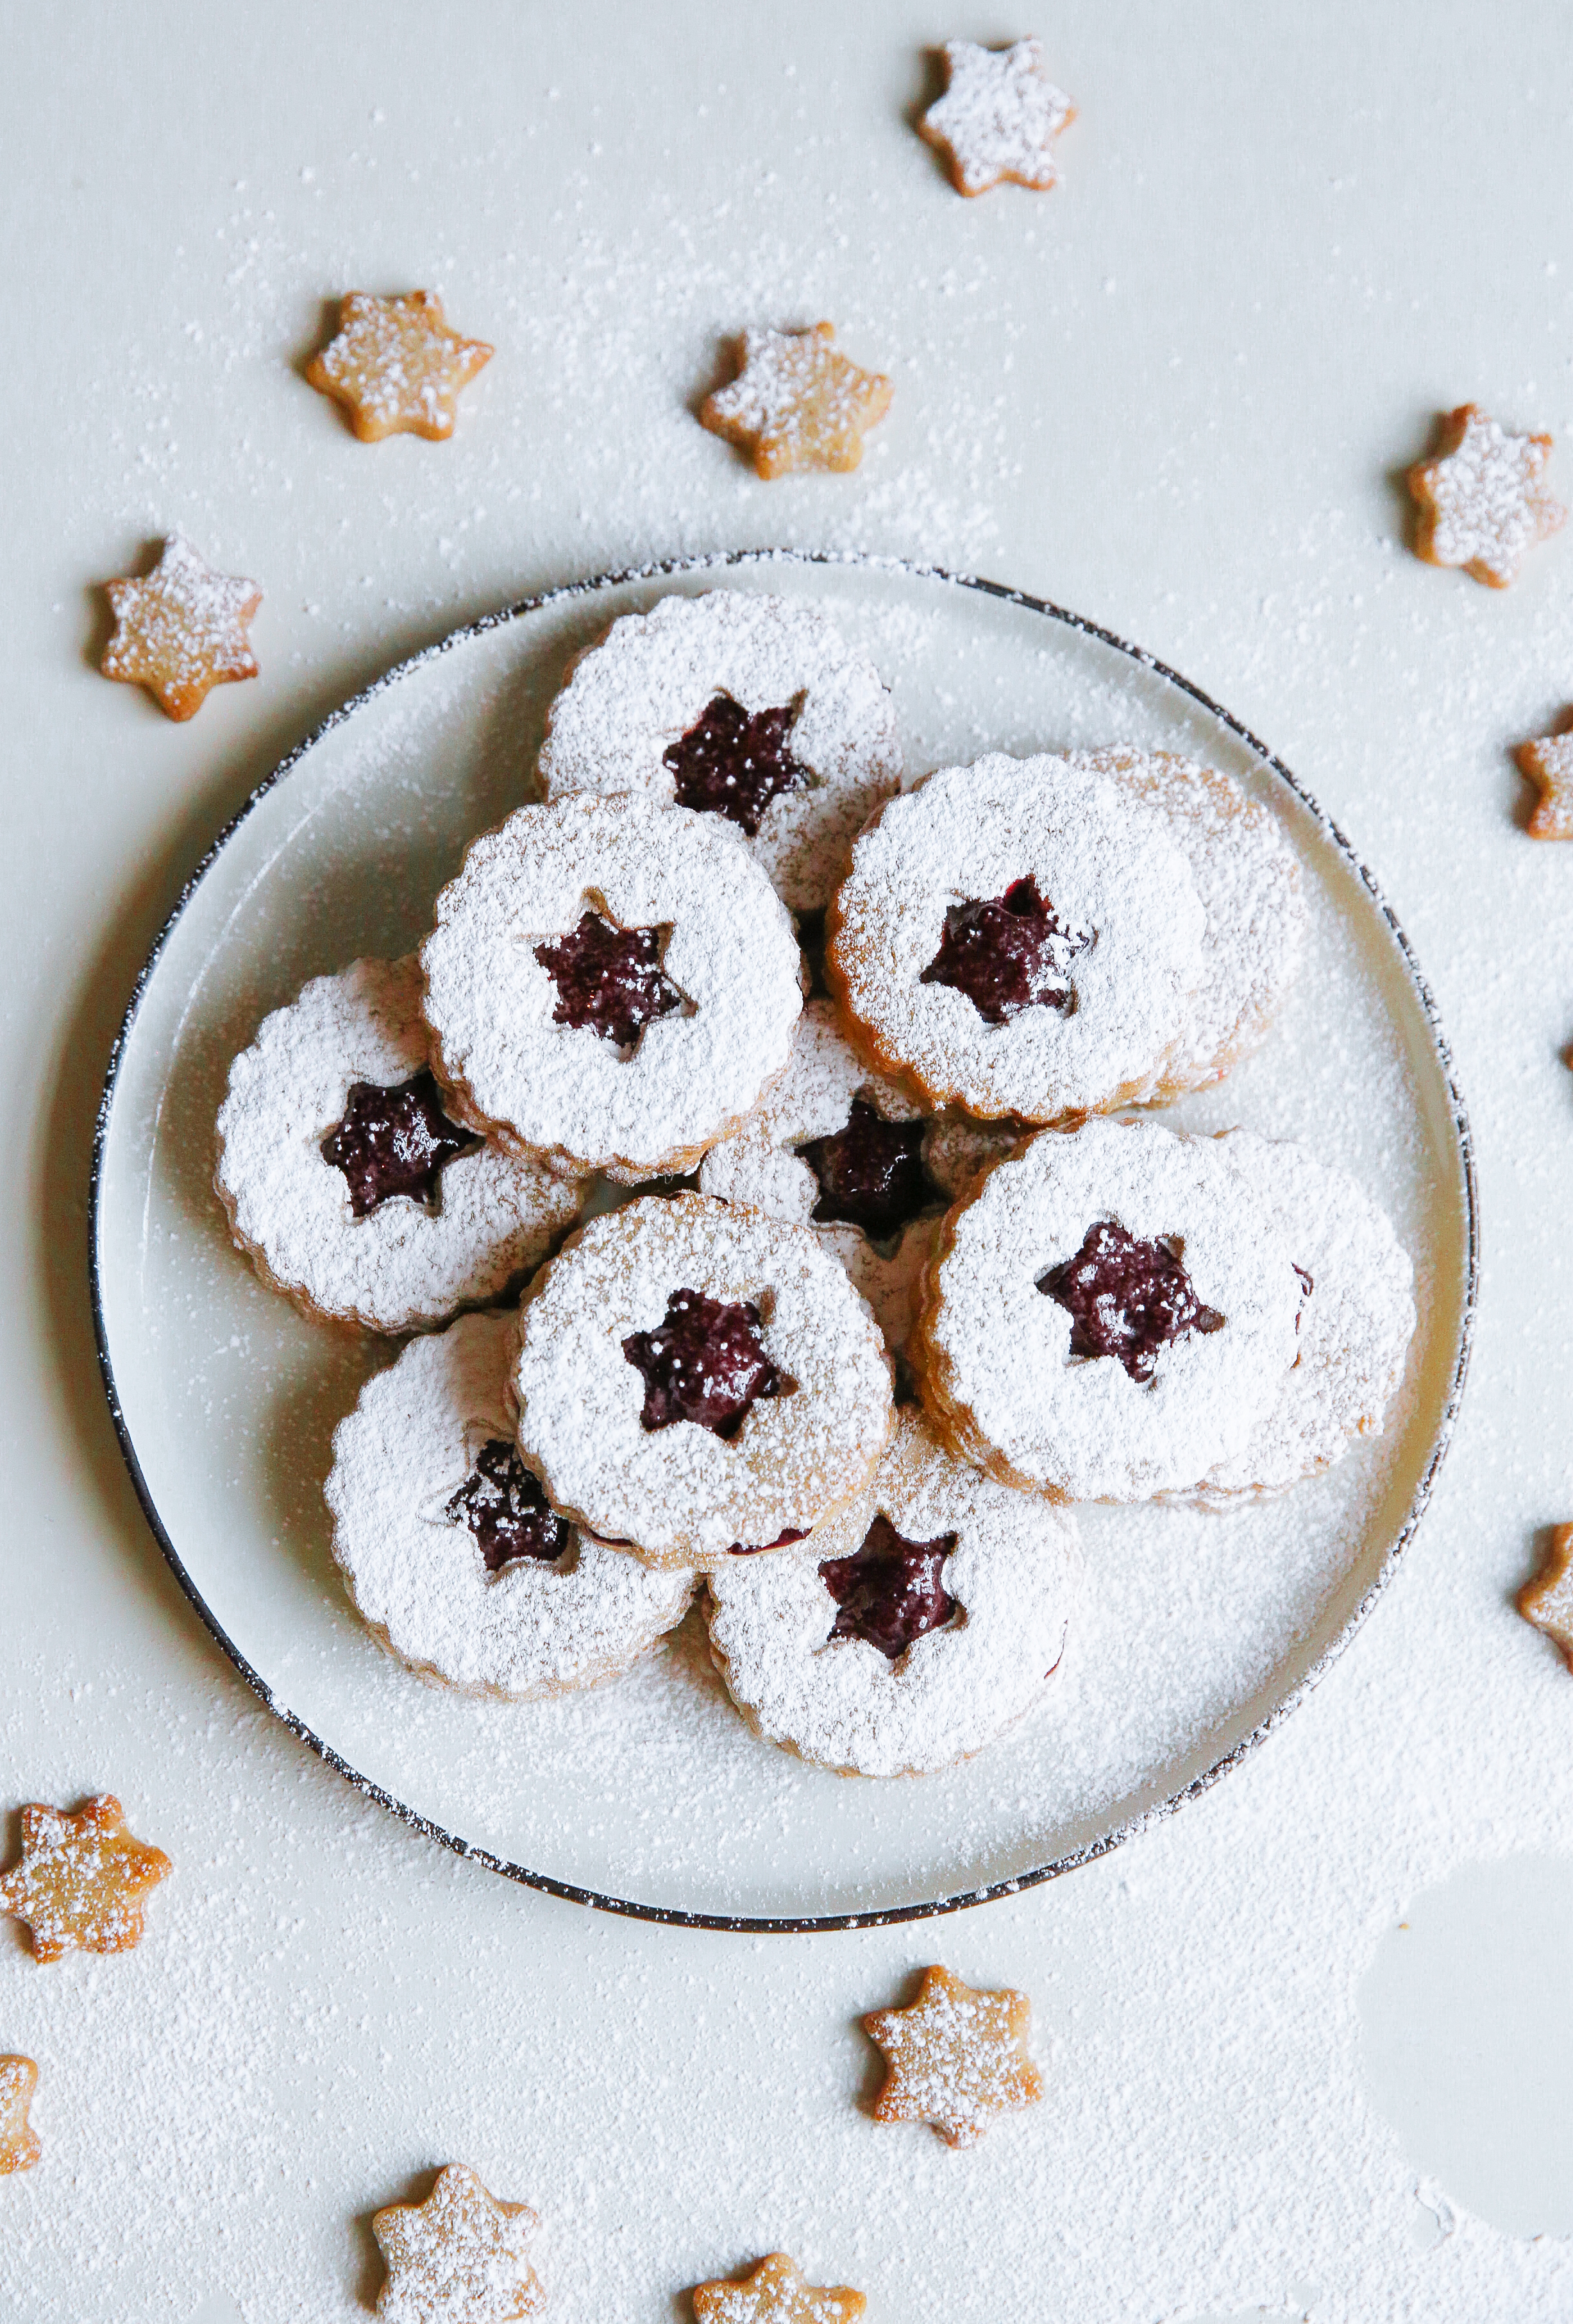
M 21 1857 L 0 1878 L 0 1910 L 33 1931 L 39 1961 L 63 1952 L 128 1952 L 142 1943 L 142 1899 L 172 1873 L 163 1848 L 132 1841 L 109 1792 L 67 1815 L 21 1810 Z

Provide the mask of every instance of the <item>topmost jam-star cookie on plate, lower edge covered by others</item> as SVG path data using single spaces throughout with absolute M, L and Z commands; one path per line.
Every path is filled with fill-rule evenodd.
M 820 911 L 902 783 L 895 702 L 811 604 L 709 590 L 579 655 L 541 746 L 548 799 L 634 790 L 718 820 L 792 911 Z

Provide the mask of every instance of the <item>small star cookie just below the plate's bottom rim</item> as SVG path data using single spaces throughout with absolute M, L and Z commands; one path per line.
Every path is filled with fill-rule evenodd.
M 890 2066 L 876 2122 L 932 2122 L 953 2147 L 971 2147 L 992 2115 L 1043 2096 L 1027 2057 L 1027 1994 L 978 1994 L 948 1968 L 925 1968 L 911 2008 L 874 2010 L 862 2024 Z

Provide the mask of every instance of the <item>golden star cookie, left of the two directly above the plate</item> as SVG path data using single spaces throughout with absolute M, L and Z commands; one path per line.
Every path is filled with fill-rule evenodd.
M 439 444 L 453 435 L 455 397 L 493 360 L 486 339 L 460 339 L 441 318 L 434 290 L 372 297 L 351 290 L 339 302 L 339 328 L 307 379 L 344 404 L 362 444 L 388 435 L 421 435 Z

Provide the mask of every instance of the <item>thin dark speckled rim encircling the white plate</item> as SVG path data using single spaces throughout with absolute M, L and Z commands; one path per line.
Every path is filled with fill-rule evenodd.
M 558 1880 L 553 1873 L 532 1871 L 527 1864 L 516 1864 L 509 1857 L 500 1857 L 490 1848 L 481 1848 L 474 1841 L 465 1841 L 462 1834 L 448 1831 L 444 1824 L 423 1815 L 418 1808 L 411 1808 L 407 1801 L 395 1799 L 393 1792 L 388 1792 L 383 1785 L 374 1783 L 369 1776 L 362 1776 L 360 1769 L 351 1766 L 351 1762 L 325 1736 L 318 1736 L 295 1710 L 288 1708 L 288 1703 L 281 1703 L 274 1697 L 274 1690 L 263 1678 L 263 1673 L 251 1664 L 251 1659 L 242 1652 L 235 1638 L 230 1638 L 223 1622 L 216 1618 L 216 1613 L 197 1590 L 179 1550 L 174 1548 L 174 1541 L 170 1538 L 170 1532 L 163 1522 L 153 1492 L 142 1471 L 142 1459 L 137 1455 L 137 1446 L 132 1441 L 121 1406 L 121 1392 L 114 1376 L 114 1357 L 109 1353 L 109 1322 L 105 1313 L 105 1290 L 102 1290 L 100 1243 L 105 1227 L 105 1199 L 102 1199 L 105 1157 L 109 1146 L 109 1129 L 114 1118 L 114 1099 L 118 1092 L 121 1064 L 125 1062 L 125 1050 L 135 1032 L 142 1002 L 146 999 L 146 990 L 163 960 L 165 946 L 170 944 L 170 937 L 174 934 L 181 916 L 186 913 L 186 906 L 191 904 L 197 888 L 216 865 L 218 855 L 228 848 L 230 839 L 239 832 L 242 823 L 246 823 L 246 818 L 263 804 L 263 799 L 272 790 L 276 790 L 295 772 L 300 760 L 309 751 L 314 751 L 318 741 L 332 734 L 335 727 L 353 718 L 355 711 L 374 702 L 376 695 L 386 693 L 390 686 L 397 686 L 402 679 L 411 676 L 416 669 L 423 669 L 428 662 L 439 660 L 444 653 L 451 653 L 453 648 L 469 644 L 476 637 L 486 637 L 490 630 L 500 630 L 513 621 L 523 621 L 530 614 L 539 614 L 546 607 L 565 604 L 574 597 L 592 597 L 602 590 L 623 588 L 634 581 L 660 581 L 676 574 L 695 574 L 695 572 L 725 572 L 744 565 L 809 565 L 809 567 L 841 565 L 841 567 L 857 567 L 864 572 L 892 572 L 908 579 L 939 581 L 946 588 L 976 590 L 983 597 L 997 597 L 1004 604 L 1022 607 L 1022 611 L 1039 614 L 1046 621 L 1055 621 L 1066 630 L 1076 630 L 1083 637 L 1094 637 L 1101 644 L 1113 646 L 1118 653 L 1127 655 L 1127 660 L 1136 662 L 1141 669 L 1150 669 L 1155 676 L 1164 679 L 1169 686 L 1178 688 L 1204 711 L 1218 718 L 1220 725 L 1224 725 L 1250 751 L 1255 751 L 1262 765 L 1266 765 L 1271 774 L 1287 786 L 1292 797 L 1315 818 L 1324 837 L 1343 855 L 1348 869 L 1357 874 L 1359 883 L 1364 885 L 1378 913 L 1382 916 L 1387 932 L 1399 951 L 1399 960 L 1403 962 L 1403 971 L 1410 981 L 1415 999 L 1420 1002 L 1420 1011 L 1431 1039 L 1431 1050 L 1436 1055 L 1436 1064 L 1443 1076 L 1443 1088 L 1448 1092 L 1448 1106 L 1452 1120 L 1452 1136 L 1464 1181 L 1464 1220 L 1466 1220 L 1464 1299 L 1459 1313 L 1459 1336 L 1452 1360 L 1452 1376 L 1448 1385 L 1448 1404 L 1443 1408 L 1443 1418 L 1436 1439 L 1431 1443 L 1431 1452 L 1415 1485 L 1415 1492 L 1410 1494 L 1399 1532 L 1382 1552 L 1378 1571 L 1369 1580 L 1366 1590 L 1359 1594 L 1359 1601 L 1355 1604 L 1350 1615 L 1343 1620 L 1338 1634 L 1322 1648 L 1310 1669 L 1301 1673 L 1294 1687 L 1278 1703 L 1273 1703 L 1273 1708 L 1266 1710 L 1245 1736 L 1241 1736 L 1236 1743 L 1229 1745 L 1227 1752 L 1222 1752 L 1206 1769 L 1192 1776 L 1190 1783 L 1180 1785 L 1180 1789 L 1176 1792 L 1169 1792 L 1162 1801 L 1141 1808 L 1136 1815 L 1125 1817 L 1108 1831 L 1101 1831 L 1094 1841 L 1085 1841 L 1080 1848 L 1066 1850 L 1064 1855 L 1053 1857 L 1048 1864 L 1039 1864 L 1027 1873 L 1013 1873 L 1008 1880 L 990 1880 L 983 1882 L 981 1887 L 953 1889 L 943 1896 L 927 1896 L 913 1903 L 890 1906 L 869 1913 L 809 1913 L 809 1915 L 699 1913 L 683 1906 L 644 1903 L 634 1896 L 618 1896 L 606 1889 L 583 1887 L 574 1880 Z M 88 1297 L 93 1306 L 93 1343 L 98 1350 L 98 1371 L 105 1387 L 105 1399 L 109 1404 L 109 1420 L 114 1425 L 116 1443 L 121 1448 L 121 1459 L 125 1462 L 125 1471 L 130 1476 L 130 1485 L 142 1508 L 142 1515 L 146 1518 L 149 1532 L 153 1534 L 153 1541 L 163 1550 L 163 1557 L 170 1564 L 174 1580 L 179 1583 L 181 1592 L 186 1594 L 186 1601 L 195 1611 L 209 1638 L 218 1645 L 225 1659 L 244 1678 L 244 1683 L 251 1687 L 258 1701 L 267 1710 L 272 1710 L 274 1717 L 281 1720 L 293 1736 L 297 1736 L 297 1741 L 302 1741 L 311 1752 L 316 1752 L 318 1759 L 323 1759 L 339 1776 L 344 1776 L 344 1780 L 351 1783 L 355 1792 L 360 1792 L 365 1799 L 376 1801 L 376 1806 L 388 1808 L 411 1831 L 418 1831 L 428 1841 L 441 1843 L 444 1848 L 453 1850 L 453 1855 L 465 1857 L 472 1864 L 483 1864 L 488 1871 L 500 1873 L 504 1880 L 513 1880 L 520 1887 L 537 1889 L 546 1896 L 558 1896 L 565 1903 L 581 1903 L 599 1913 L 613 1913 L 623 1920 L 655 1922 L 674 1929 L 716 1929 L 730 1936 L 823 1936 L 843 1929 L 888 1929 L 897 1927 L 899 1922 L 934 1920 L 941 1913 L 962 1913 L 969 1910 L 971 1906 L 994 1903 L 1001 1896 L 1018 1896 L 1025 1889 L 1041 1887 L 1046 1880 L 1057 1880 L 1064 1873 L 1078 1871 L 1083 1864 L 1092 1864 L 1099 1857 L 1113 1855 L 1113 1850 L 1120 1848 L 1125 1841 L 1136 1838 L 1141 1831 L 1148 1831 L 1150 1827 L 1176 1815 L 1187 1801 L 1199 1799 L 1204 1792 L 1211 1792 L 1213 1785 L 1229 1773 L 1229 1769 L 1238 1766 L 1241 1759 L 1255 1752 L 1257 1745 L 1264 1743 L 1283 1724 L 1283 1720 L 1287 1720 L 1290 1713 L 1303 1703 L 1303 1699 L 1313 1692 L 1313 1687 L 1320 1685 L 1320 1680 L 1327 1676 L 1334 1662 L 1350 1645 L 1355 1634 L 1364 1627 L 1371 1608 L 1376 1606 L 1378 1597 L 1392 1580 L 1399 1557 L 1415 1538 L 1420 1520 L 1424 1518 L 1424 1511 L 1431 1501 L 1431 1492 L 1436 1487 L 1443 1459 L 1448 1457 L 1448 1448 L 1452 1443 L 1452 1434 L 1459 1418 L 1459 1406 L 1464 1399 L 1464 1383 L 1468 1378 L 1468 1360 L 1473 1350 L 1475 1313 L 1480 1299 L 1480 1192 L 1475 1183 L 1475 1143 L 1468 1122 L 1468 1109 L 1464 1104 L 1464 1095 L 1457 1081 L 1457 1069 L 1452 1062 L 1452 1046 L 1448 1041 L 1448 1034 L 1443 1032 L 1436 997 L 1415 957 L 1415 948 L 1410 946 L 1403 927 L 1399 925 L 1392 904 L 1382 895 L 1380 881 L 1357 855 L 1357 851 L 1345 839 L 1338 823 L 1334 823 L 1334 818 L 1322 806 L 1317 806 L 1317 802 L 1299 781 L 1299 776 L 1294 776 L 1292 769 L 1278 758 L 1278 753 L 1269 751 L 1266 744 L 1259 741 L 1259 737 L 1252 734 L 1248 725 L 1243 725 L 1243 720 L 1238 720 L 1220 702 L 1213 702 L 1208 693 L 1194 686 L 1178 669 L 1171 669 L 1169 662 L 1162 662 L 1157 655 L 1148 653 L 1143 646 L 1132 646 L 1129 639 L 1120 637 L 1113 630 L 1106 630 L 1101 623 L 1087 621 L 1087 616 L 1073 614 L 1069 611 L 1069 607 L 1060 607 L 1048 597 L 1034 597 L 1029 590 L 1011 588 L 1004 581 L 987 581 L 981 574 L 960 574 L 953 572 L 950 567 L 929 565 L 913 558 L 869 555 L 862 551 L 727 548 L 685 558 L 658 558 L 646 565 L 630 565 L 616 572 L 590 574 L 581 581 L 562 581 L 553 588 L 537 590 L 530 597 L 520 597 L 513 604 L 500 607 L 490 614 L 481 614 L 474 621 L 460 623 L 455 630 L 448 630 L 430 646 L 421 646 L 416 653 L 404 655 L 404 660 L 393 662 L 376 679 L 372 679 L 369 686 L 362 686 L 346 702 L 339 702 L 332 711 L 328 711 L 328 716 L 321 718 L 307 734 L 302 734 L 302 739 L 290 751 L 286 751 L 286 755 L 276 762 L 276 767 L 267 776 L 263 776 L 263 781 L 246 795 L 242 806 L 221 825 L 216 837 L 209 841 L 209 846 L 202 851 L 200 860 L 181 883 L 179 895 L 170 906 L 170 913 L 165 916 L 142 967 L 137 969 L 130 999 L 125 1004 L 125 1013 L 109 1046 L 105 1083 L 100 1090 L 98 1113 L 93 1120 L 93 1155 L 88 1171 Z

